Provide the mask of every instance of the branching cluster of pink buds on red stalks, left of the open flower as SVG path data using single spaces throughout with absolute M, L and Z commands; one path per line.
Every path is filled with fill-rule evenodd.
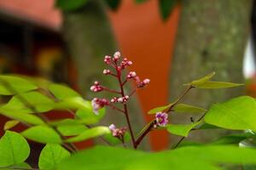
M 150 80 L 148 78 L 144 79 L 143 81 L 137 76 L 135 71 L 130 71 L 126 76 L 124 76 L 125 72 L 123 72 L 128 66 L 132 65 L 131 60 L 127 58 L 122 58 L 119 52 L 115 52 L 113 57 L 106 55 L 104 58 L 105 64 L 112 67 L 112 70 L 104 69 L 103 74 L 108 76 L 113 76 L 118 79 L 119 82 L 119 91 L 109 89 L 107 87 L 103 87 L 100 82 L 95 82 L 94 85 L 90 87 L 92 92 L 101 92 L 101 91 L 108 91 L 113 94 L 118 94 L 119 96 L 115 96 L 110 101 L 108 99 L 93 99 L 91 101 L 91 105 L 93 107 L 93 111 L 98 114 L 98 111 L 105 105 L 110 106 L 112 109 L 116 111 L 120 111 L 125 115 L 128 115 L 126 107 L 126 103 L 131 98 L 131 95 L 137 91 L 137 88 L 144 88 L 148 85 Z M 137 88 L 131 91 L 130 94 L 125 94 L 125 83 L 128 81 L 134 81 L 137 83 Z M 114 104 L 122 104 L 124 105 L 124 109 L 120 109 L 116 107 Z M 109 127 L 113 133 L 113 136 L 119 137 L 122 136 L 125 131 L 126 127 L 116 128 L 114 125 Z

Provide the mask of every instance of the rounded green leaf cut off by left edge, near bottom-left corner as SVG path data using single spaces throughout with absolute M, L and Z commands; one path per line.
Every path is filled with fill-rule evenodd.
M 7 130 L 0 139 L 0 167 L 19 164 L 29 156 L 30 148 L 19 133 Z

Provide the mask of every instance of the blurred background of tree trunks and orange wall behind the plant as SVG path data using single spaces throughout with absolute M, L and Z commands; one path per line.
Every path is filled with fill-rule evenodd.
M 237 95 L 256 96 L 255 26 L 253 0 L 0 0 L 0 71 L 63 82 L 92 99 L 96 80 L 117 87 L 102 76 L 102 59 L 119 50 L 133 61 L 131 71 L 151 80 L 130 105 L 138 132 L 152 120 L 147 111 L 169 104 L 184 82 L 212 71 L 216 80 L 246 82 L 246 88 L 195 90 L 184 103 L 207 108 Z M 108 115 L 103 123 L 124 124 Z M 1 116 L 1 129 L 6 120 Z M 204 134 L 193 138 L 207 140 Z M 163 150 L 176 140 L 153 132 L 143 147 Z

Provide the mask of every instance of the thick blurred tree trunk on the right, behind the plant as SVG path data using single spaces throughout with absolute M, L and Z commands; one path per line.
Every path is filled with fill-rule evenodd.
M 191 82 L 216 71 L 215 80 L 244 82 L 242 60 L 247 42 L 252 1 L 184 0 L 172 58 L 170 100 Z M 184 103 L 208 108 L 214 102 L 244 94 L 244 88 L 220 90 L 192 89 Z M 189 122 L 188 116 L 172 116 L 172 122 Z M 209 135 L 211 133 L 212 135 Z M 219 134 L 207 130 L 192 139 L 214 139 Z M 172 137 L 172 142 L 177 141 Z

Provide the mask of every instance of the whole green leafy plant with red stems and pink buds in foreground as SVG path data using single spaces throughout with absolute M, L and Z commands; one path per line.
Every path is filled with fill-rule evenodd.
M 184 86 L 187 88 L 171 104 L 148 111 L 148 114 L 154 115 L 152 121 L 140 133 L 135 134 L 132 127 L 136 125 L 130 122 L 127 105 L 131 96 L 138 89 L 148 86 L 150 80 L 140 80 L 135 71 L 126 75 L 125 69 L 132 62 L 122 58 L 119 52 L 113 54 L 113 57 L 105 56 L 104 62 L 110 68 L 103 70 L 103 74 L 116 79 L 119 88 L 110 89 L 95 82 L 90 90 L 114 94 L 115 97 L 111 99 L 94 98 L 88 101 L 72 88 L 61 84 L 38 81 L 32 77 L 0 76 L 0 94 L 10 97 L 7 103 L 1 105 L 0 113 L 12 119 L 5 123 L 5 133 L 0 139 L 0 168 L 37 169 L 24 162 L 30 154 L 26 139 L 46 144 L 39 157 L 39 169 L 215 170 L 222 169 L 226 164 L 256 164 L 256 150 L 251 148 L 256 137 L 255 99 L 241 96 L 214 104 L 208 110 L 182 103 L 191 90 L 234 88 L 241 86 L 241 83 L 212 81 L 214 72 L 186 83 Z M 128 81 L 135 81 L 137 84 L 131 92 L 124 90 Z M 116 127 L 114 122 L 109 122 L 106 126 L 96 125 L 104 116 L 105 106 L 123 114 L 126 125 Z M 49 120 L 45 113 L 52 110 L 68 111 L 73 118 Z M 170 114 L 187 113 L 201 114 L 201 117 L 198 120 L 189 117 L 189 124 L 172 124 L 168 120 Z M 19 123 L 26 125 L 26 130 L 20 133 L 10 130 Z M 229 129 L 233 133 L 207 144 L 183 142 L 192 131 L 215 128 Z M 157 153 L 137 150 L 148 133 L 160 129 L 181 136 L 172 150 Z M 109 146 L 79 151 L 73 144 L 92 138 L 101 138 Z M 131 147 L 128 143 L 131 143 Z

